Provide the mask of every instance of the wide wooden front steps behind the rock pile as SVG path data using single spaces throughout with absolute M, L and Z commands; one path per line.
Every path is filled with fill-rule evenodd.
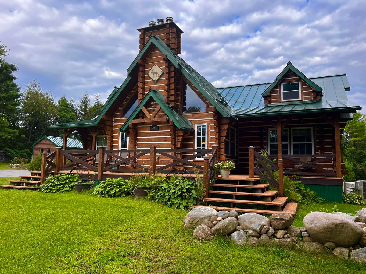
M 205 204 L 216 210 L 258 214 L 287 212 L 295 215 L 297 209 L 297 203 L 288 203 L 288 197 L 280 197 L 278 190 L 269 190 L 269 184 L 248 175 L 219 176 L 210 185 L 208 196 L 204 199 Z

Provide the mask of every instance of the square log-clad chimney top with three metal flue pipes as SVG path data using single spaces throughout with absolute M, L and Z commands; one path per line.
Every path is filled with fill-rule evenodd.
M 157 23 L 150 21 L 149 26 L 137 30 L 140 32 L 140 51 L 149 41 L 150 35 L 153 34 L 163 40 L 177 54 L 182 52 L 181 38 L 183 31 L 173 22 L 172 17 L 167 17 L 166 22 L 162 18 L 157 19 Z

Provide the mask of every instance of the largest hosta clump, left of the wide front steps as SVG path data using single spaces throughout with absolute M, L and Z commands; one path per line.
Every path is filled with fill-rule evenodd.
M 182 176 L 172 176 L 160 184 L 156 191 L 150 191 L 153 199 L 171 208 L 185 209 L 195 205 L 200 197 L 196 192 L 196 183 Z

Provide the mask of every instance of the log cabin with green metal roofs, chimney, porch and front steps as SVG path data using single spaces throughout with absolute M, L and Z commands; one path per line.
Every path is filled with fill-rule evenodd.
M 60 150 L 47 160 L 47 171 L 69 171 L 80 163 L 92 170 L 98 161 L 102 180 L 144 168 L 165 174 L 199 168 L 205 202 L 216 209 L 295 214 L 296 204 L 287 203 L 281 184 L 268 175 L 278 170 L 300 176 L 329 201 L 341 201 L 341 134 L 361 109 L 347 99 L 345 73 L 307 77 L 288 62 L 270 83 L 216 88 L 180 57 L 183 31 L 172 18 L 138 31 L 139 53 L 100 114 L 51 126 L 63 130 L 64 150 L 77 130 L 84 156 Z M 63 163 L 57 155 L 63 155 Z M 237 169 L 228 179 L 209 183 L 212 165 L 228 159 Z M 263 178 L 268 183 L 260 182 Z M 270 184 L 279 191 L 270 190 Z

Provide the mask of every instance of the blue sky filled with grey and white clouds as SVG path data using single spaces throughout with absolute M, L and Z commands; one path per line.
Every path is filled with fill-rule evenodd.
M 306 76 L 347 73 L 349 98 L 366 112 L 364 0 L 0 0 L 0 41 L 55 99 L 105 100 L 138 53 L 138 31 L 172 16 L 182 57 L 216 87 L 271 82 L 291 61 Z

